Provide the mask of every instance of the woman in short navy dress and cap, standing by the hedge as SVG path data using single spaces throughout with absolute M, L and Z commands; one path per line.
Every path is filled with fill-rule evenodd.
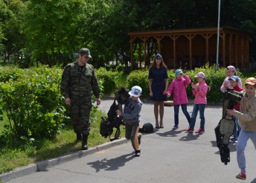
M 150 89 L 151 99 L 154 101 L 154 114 L 156 119 L 156 128 L 164 128 L 164 101 L 167 100 L 168 75 L 167 66 L 160 54 L 156 54 L 153 64 L 150 66 L 148 75 L 148 87 Z M 160 121 L 159 121 L 160 115 Z M 160 122 L 160 123 L 159 123 Z

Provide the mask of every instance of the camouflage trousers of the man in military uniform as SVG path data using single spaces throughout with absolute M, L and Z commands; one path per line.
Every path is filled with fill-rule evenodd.
M 71 104 L 70 117 L 75 133 L 89 135 L 91 129 L 91 106 Z

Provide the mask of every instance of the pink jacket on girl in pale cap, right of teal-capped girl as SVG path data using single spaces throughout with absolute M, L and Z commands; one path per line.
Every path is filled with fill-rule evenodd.
M 197 86 L 199 86 L 199 90 Z M 207 104 L 206 94 L 208 92 L 208 85 L 205 83 L 205 80 L 196 83 L 196 89 L 193 89 L 192 92 L 195 96 L 194 104 Z

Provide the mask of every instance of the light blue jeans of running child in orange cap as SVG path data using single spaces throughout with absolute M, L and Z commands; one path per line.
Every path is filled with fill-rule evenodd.
M 244 155 L 244 150 L 246 149 L 249 138 L 251 138 L 256 149 L 256 132 L 240 131 L 237 141 L 237 163 L 243 173 L 246 172 L 246 156 Z

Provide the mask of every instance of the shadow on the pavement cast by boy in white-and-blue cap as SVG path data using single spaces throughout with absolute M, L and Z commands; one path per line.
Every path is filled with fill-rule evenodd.
M 95 168 L 96 172 L 99 172 L 100 170 L 112 171 L 112 170 L 118 170 L 119 167 L 123 167 L 124 164 L 130 161 L 132 158 L 135 158 L 134 153 L 121 155 L 117 158 L 112 158 L 112 159 L 103 158 L 100 161 L 97 160 L 88 164 L 91 167 Z

